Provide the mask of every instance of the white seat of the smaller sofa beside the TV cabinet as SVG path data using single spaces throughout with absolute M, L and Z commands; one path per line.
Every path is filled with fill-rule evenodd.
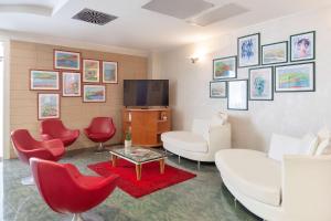
M 163 143 L 171 144 L 186 151 L 207 152 L 207 141 L 202 135 L 191 131 L 168 131 L 161 135 Z

